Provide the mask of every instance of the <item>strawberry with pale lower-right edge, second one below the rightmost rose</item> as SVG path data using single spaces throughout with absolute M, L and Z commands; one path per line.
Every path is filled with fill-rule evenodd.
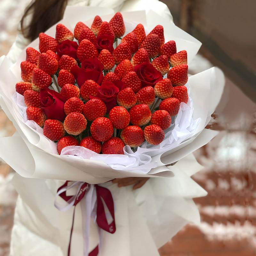
M 129 111 L 131 117 L 131 123 L 133 125 L 144 125 L 148 124 L 151 119 L 151 111 L 146 104 L 139 104 L 133 106 Z

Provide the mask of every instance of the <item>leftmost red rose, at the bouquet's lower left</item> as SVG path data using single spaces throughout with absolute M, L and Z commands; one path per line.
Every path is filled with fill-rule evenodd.
M 66 118 L 64 104 L 67 100 L 59 92 L 55 92 L 49 88 L 41 89 L 40 101 L 48 119 L 55 119 L 62 122 Z

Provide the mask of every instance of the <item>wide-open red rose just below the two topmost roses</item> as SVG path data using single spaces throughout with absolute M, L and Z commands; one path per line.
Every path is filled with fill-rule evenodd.
M 73 66 L 70 73 L 76 78 L 79 88 L 84 84 L 86 80 L 93 80 L 97 84 L 101 84 L 104 76 L 102 73 L 103 64 L 97 57 L 94 59 L 87 59 L 82 61 L 81 68 L 77 65 Z

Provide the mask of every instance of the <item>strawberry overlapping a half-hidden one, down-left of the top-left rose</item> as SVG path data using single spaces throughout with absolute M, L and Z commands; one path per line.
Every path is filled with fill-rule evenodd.
M 49 74 L 54 75 L 58 71 L 59 63 L 58 60 L 54 59 L 47 53 L 41 53 L 38 59 L 38 68 Z

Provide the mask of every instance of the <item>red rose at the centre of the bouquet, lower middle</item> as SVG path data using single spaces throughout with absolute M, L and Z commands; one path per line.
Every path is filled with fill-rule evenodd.
M 104 82 L 98 87 L 96 97 L 89 96 L 90 99 L 100 99 L 107 107 L 107 114 L 109 111 L 116 106 L 116 98 L 119 89 L 111 82 Z

